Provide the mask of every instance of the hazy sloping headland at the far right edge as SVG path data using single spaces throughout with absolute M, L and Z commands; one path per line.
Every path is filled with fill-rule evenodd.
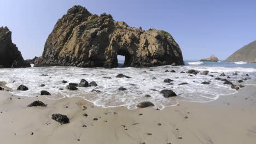
M 230 62 L 251 62 L 256 63 L 256 40 L 237 50 L 226 61 Z

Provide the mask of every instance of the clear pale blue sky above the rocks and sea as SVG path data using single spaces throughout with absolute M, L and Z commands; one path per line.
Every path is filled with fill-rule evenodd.
M 255 0 L 0 0 L 0 26 L 8 26 L 25 59 L 41 56 L 58 19 L 73 5 L 92 14 L 111 14 L 116 21 L 174 37 L 185 60 L 214 54 L 225 59 L 256 40 Z

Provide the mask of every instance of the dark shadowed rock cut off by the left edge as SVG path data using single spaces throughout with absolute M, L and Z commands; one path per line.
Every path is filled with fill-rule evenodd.
M 11 41 L 11 31 L 0 27 L 0 68 L 25 68 L 31 65 L 24 61 L 18 47 Z

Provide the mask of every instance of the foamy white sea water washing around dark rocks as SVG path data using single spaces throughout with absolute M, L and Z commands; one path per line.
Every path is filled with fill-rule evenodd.
M 119 64 L 122 65 L 121 62 Z M 153 71 L 150 71 L 152 69 Z M 181 74 L 181 71 L 195 69 L 199 71 L 208 70 L 208 75 Z M 164 72 L 165 70 L 175 70 L 177 73 Z M 144 73 L 146 71 L 147 73 Z M 213 73 L 211 73 L 213 72 Z M 236 72 L 238 75 L 233 75 Z M 230 76 L 229 81 L 235 85 L 255 85 L 256 86 L 256 63 L 245 62 L 197 62 L 185 61 L 185 66 L 172 67 L 165 65 L 151 68 L 78 68 L 78 67 L 40 67 L 40 68 L 14 68 L 0 69 L 0 81 L 7 82 L 7 86 L 12 88 L 11 93 L 25 96 L 36 97 L 40 91 L 46 90 L 51 93 L 49 99 L 61 99 L 65 97 L 81 97 L 97 106 L 117 107 L 126 106 L 128 109 L 136 109 L 136 105 L 142 101 L 152 101 L 155 108 L 164 109 L 165 106 L 174 106 L 178 100 L 194 101 L 205 103 L 216 100 L 228 94 L 236 93 L 230 85 L 224 85 L 223 81 L 214 80 L 220 77 L 221 73 Z M 46 74 L 46 76 L 43 76 Z M 131 79 L 117 78 L 118 74 L 131 76 Z M 246 76 L 248 74 L 249 76 Z M 209 76 L 213 75 L 213 77 Z M 225 77 L 220 77 L 226 79 Z M 112 77 L 112 79 L 103 79 Z M 156 79 L 153 79 L 155 77 Z M 247 79 L 242 83 L 237 80 Z M 69 91 L 65 87 L 68 83 L 62 80 L 79 83 L 81 79 L 88 82 L 95 81 L 97 87 L 78 87 L 77 91 Z M 173 85 L 164 83 L 164 79 L 173 80 Z M 211 82 L 210 85 L 202 85 L 201 82 Z M 178 85 L 187 82 L 188 85 Z M 26 85 L 28 91 L 16 91 L 19 85 Z M 39 87 L 44 84 L 45 87 Z M 119 87 L 127 88 L 127 91 L 119 91 Z M 63 88 L 63 90 L 59 90 Z M 101 93 L 91 92 L 97 89 Z M 153 91 L 155 89 L 156 91 Z M 171 89 L 178 96 L 164 98 L 159 92 L 162 89 Z M 239 91 L 239 90 L 238 90 Z M 151 97 L 144 97 L 146 94 Z

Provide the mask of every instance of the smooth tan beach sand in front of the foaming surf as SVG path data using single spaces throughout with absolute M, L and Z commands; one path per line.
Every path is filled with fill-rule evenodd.
M 34 100 L 48 106 L 27 107 Z M 210 103 L 179 101 L 179 104 L 164 110 L 104 109 L 82 98 L 50 100 L 45 96 L 17 97 L 1 91 L 0 141 L 4 144 L 256 143 L 255 86 L 246 86 L 236 94 Z M 83 110 L 83 106 L 87 109 Z M 70 123 L 53 121 L 53 113 L 67 115 Z

